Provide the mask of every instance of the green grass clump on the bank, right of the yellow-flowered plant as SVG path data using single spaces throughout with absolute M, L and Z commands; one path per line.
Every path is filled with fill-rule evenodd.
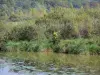
M 100 54 L 100 46 L 92 39 L 71 39 L 60 42 L 62 51 L 67 54 Z

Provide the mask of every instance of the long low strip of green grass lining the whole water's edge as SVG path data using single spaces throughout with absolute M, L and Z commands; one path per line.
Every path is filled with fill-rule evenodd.
M 57 52 L 66 54 L 100 54 L 100 43 L 93 39 L 61 40 L 58 44 L 46 41 L 8 41 L 5 44 L 7 51 L 27 52 Z

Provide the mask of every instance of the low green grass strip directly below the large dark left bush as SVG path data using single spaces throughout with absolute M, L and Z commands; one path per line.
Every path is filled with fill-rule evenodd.
M 28 41 L 20 41 L 20 42 L 9 41 L 6 44 L 6 48 L 8 51 L 39 52 L 40 50 L 38 43 L 28 42 Z

